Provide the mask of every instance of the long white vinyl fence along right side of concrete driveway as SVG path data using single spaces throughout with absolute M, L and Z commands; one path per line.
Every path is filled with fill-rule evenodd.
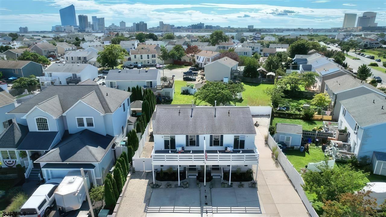
M 268 135 L 268 141 L 267 141 L 269 148 L 272 148 L 274 146 L 277 146 L 275 140 L 271 135 Z M 280 149 L 278 148 L 280 151 Z M 311 217 L 319 217 L 319 215 L 316 213 L 315 209 L 313 209 L 311 202 L 308 200 L 302 185 L 304 185 L 303 178 L 301 178 L 300 174 L 296 169 L 292 166 L 292 164 L 288 161 L 287 157 L 283 154 L 283 152 L 280 151 L 278 156 L 278 161 L 280 165 L 283 167 L 284 171 L 288 175 L 289 179 L 295 186 L 296 191 L 298 192 L 301 200 L 303 201 L 306 209 L 308 210 L 308 213 L 310 213 Z

